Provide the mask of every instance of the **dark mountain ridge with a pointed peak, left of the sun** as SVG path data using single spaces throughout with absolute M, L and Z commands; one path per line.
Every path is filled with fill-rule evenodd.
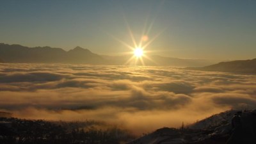
M 70 51 L 52 47 L 24 47 L 0 44 L 0 57 L 7 63 L 88 63 L 99 64 L 102 57 L 88 49 L 76 47 Z

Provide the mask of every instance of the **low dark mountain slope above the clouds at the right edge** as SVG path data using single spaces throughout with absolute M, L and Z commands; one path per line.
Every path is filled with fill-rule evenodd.
M 253 60 L 226 61 L 215 65 L 209 65 L 207 67 L 194 67 L 187 69 L 256 74 L 256 58 Z

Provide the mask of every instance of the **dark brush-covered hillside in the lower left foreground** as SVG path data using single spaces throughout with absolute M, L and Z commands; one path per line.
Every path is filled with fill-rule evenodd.
M 118 144 L 134 138 L 129 132 L 116 127 L 95 128 L 100 125 L 104 126 L 94 121 L 47 122 L 2 117 L 0 118 L 0 143 Z

